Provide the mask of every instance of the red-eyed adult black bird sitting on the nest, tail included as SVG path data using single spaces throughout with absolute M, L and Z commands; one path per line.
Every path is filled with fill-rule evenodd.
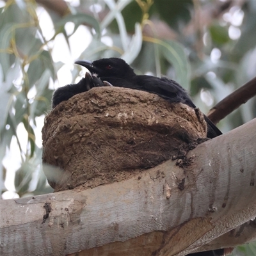
M 120 58 L 100 59 L 96 61 L 81 61 L 76 64 L 86 67 L 91 73 L 97 74 L 102 81 L 108 81 L 113 86 L 126 87 L 145 92 L 156 93 L 169 102 L 182 102 L 191 108 L 196 108 L 188 93 L 180 84 L 167 77 L 138 76 L 133 69 Z M 221 131 L 204 115 L 207 123 L 207 138 L 221 135 Z

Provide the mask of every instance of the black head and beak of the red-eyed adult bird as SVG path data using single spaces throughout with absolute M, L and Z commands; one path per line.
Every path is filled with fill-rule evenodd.
M 75 63 L 86 67 L 91 73 L 97 74 L 101 79 L 113 76 L 135 76 L 133 69 L 120 58 L 106 58 L 95 60 L 93 62 L 77 60 Z

